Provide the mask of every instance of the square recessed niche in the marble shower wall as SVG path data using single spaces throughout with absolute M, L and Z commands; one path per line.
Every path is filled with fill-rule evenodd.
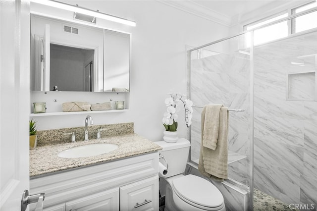
M 316 71 L 287 74 L 286 100 L 317 101 Z

